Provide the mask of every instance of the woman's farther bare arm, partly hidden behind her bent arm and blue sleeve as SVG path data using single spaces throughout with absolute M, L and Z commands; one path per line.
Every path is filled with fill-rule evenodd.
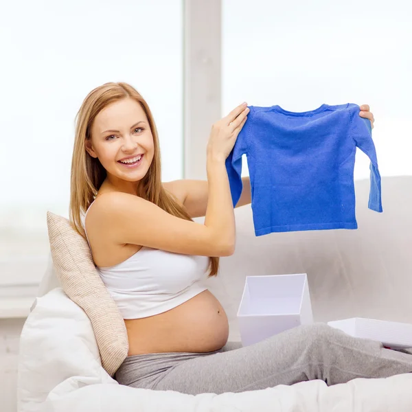
M 236 207 L 251 203 L 251 181 L 249 176 L 242 177 L 242 183 L 242 194 Z M 192 218 L 205 216 L 209 192 L 207 181 L 182 179 L 163 183 L 163 186 L 179 199 Z

